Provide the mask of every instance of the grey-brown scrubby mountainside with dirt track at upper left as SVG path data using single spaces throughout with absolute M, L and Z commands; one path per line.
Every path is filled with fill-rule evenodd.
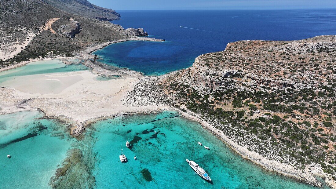
M 3 0 L 0 67 L 128 38 L 130 31 L 109 22 L 119 16 L 86 0 Z

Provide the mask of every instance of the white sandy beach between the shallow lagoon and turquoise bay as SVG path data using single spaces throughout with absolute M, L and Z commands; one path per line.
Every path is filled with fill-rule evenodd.
M 20 76 L 2 85 L 3 102 L 10 99 L 30 99 L 26 105 L 36 107 L 48 116 L 67 117 L 84 123 L 101 116 L 124 112 L 142 112 L 164 108 L 163 106 L 129 107 L 122 99 L 142 79 L 124 75 L 108 81 L 98 81 L 90 71 Z M 13 90 L 15 89 L 15 90 Z

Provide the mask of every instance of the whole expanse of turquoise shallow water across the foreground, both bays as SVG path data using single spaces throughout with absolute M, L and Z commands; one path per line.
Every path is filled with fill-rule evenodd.
M 1 187 L 49 188 L 55 169 L 70 156 L 70 169 L 55 182 L 58 188 L 314 188 L 263 171 L 176 112 L 98 121 L 79 140 L 42 115 L 0 115 Z M 125 146 L 127 139 L 131 148 Z M 121 148 L 126 163 L 119 160 Z M 79 149 L 79 155 L 69 149 Z M 213 183 L 199 177 L 186 158 L 202 166 Z

